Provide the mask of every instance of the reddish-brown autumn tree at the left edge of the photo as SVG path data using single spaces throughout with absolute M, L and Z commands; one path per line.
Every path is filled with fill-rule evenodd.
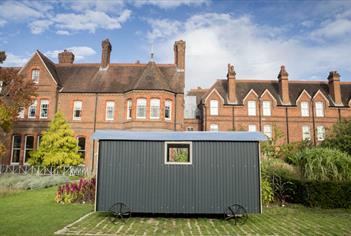
M 0 63 L 6 60 L 0 52 Z M 0 67 L 0 157 L 5 152 L 6 135 L 11 131 L 21 107 L 29 106 L 36 96 L 32 81 L 24 81 L 16 68 Z

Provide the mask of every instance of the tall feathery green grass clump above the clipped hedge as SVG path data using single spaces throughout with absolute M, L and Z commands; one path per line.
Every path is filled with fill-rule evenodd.
M 304 149 L 291 161 L 306 180 L 351 181 L 351 157 L 329 148 Z

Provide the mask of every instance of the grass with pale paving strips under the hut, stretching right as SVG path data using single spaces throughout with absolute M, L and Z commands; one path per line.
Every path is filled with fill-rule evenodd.
M 93 213 L 62 231 L 68 235 L 351 235 L 351 210 L 322 210 L 293 205 L 266 208 L 245 225 L 210 218 L 132 217 L 112 224 Z

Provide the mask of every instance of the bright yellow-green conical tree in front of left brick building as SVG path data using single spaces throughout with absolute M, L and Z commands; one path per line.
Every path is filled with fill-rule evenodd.
M 43 133 L 39 149 L 30 153 L 29 164 L 41 166 L 75 166 L 82 163 L 77 140 L 62 112 L 57 112 Z

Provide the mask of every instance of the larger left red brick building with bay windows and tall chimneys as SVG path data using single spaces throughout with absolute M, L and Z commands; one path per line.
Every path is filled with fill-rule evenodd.
M 55 64 L 40 51 L 20 70 L 38 90 L 23 108 L 8 140 L 5 164 L 25 164 L 57 111 L 75 132 L 87 168 L 94 166 L 97 129 L 183 130 L 185 42 L 174 44 L 173 64 L 110 63 L 112 46 L 102 42 L 101 63 L 75 64 L 64 51 Z

